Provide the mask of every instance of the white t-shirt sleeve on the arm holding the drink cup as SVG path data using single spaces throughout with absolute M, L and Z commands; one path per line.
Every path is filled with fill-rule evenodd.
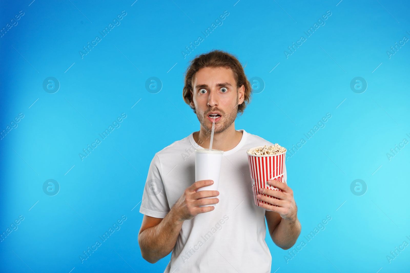
M 155 154 L 148 169 L 139 212 L 155 218 L 164 218 L 170 208 L 161 176 L 161 164 Z

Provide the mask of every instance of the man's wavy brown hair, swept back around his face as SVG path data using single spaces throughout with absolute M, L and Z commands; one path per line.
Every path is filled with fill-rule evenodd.
M 238 105 L 238 113 L 242 115 L 246 106 L 251 102 L 252 88 L 251 83 L 248 81 L 248 78 L 245 75 L 244 68 L 242 68 L 241 63 L 238 61 L 235 55 L 232 55 L 228 52 L 222 50 L 212 50 L 208 53 L 201 54 L 196 56 L 195 59 L 191 60 L 187 71 L 185 72 L 185 86 L 182 91 L 182 97 L 184 101 L 195 111 L 195 107 L 191 106 L 192 102 L 192 92 L 194 87 L 194 77 L 196 72 L 201 68 L 210 67 L 225 67 L 230 68 L 234 74 L 237 88 L 244 85 L 244 102 Z

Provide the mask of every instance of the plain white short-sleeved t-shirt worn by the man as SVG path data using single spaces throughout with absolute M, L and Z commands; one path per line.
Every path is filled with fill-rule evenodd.
M 265 209 L 255 205 L 246 150 L 271 142 L 246 133 L 223 153 L 219 203 L 211 212 L 184 221 L 164 273 L 271 272 L 265 242 Z M 192 133 L 157 152 L 150 164 L 142 196 L 142 214 L 164 218 L 184 190 L 195 182 Z M 285 166 L 285 181 L 286 166 Z M 268 232 L 269 236 L 269 232 Z

